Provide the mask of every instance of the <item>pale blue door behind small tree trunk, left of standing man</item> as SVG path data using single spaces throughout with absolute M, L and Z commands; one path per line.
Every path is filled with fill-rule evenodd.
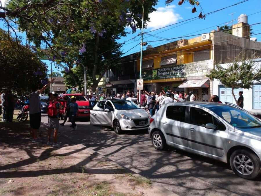
M 234 89 L 234 94 L 235 94 L 235 97 L 236 99 L 238 100 L 238 93 L 239 91 L 243 91 L 243 89 Z M 233 98 L 233 95 L 232 95 L 232 89 L 231 88 L 226 88 L 224 87 L 223 85 L 219 85 L 219 99 L 220 101 L 222 101 L 223 103 L 224 102 L 229 102 L 229 103 L 235 103 L 235 100 Z

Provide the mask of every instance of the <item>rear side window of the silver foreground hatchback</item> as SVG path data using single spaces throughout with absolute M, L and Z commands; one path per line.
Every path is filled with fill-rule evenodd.
M 185 122 L 186 106 L 170 105 L 166 110 L 166 117 L 175 121 Z

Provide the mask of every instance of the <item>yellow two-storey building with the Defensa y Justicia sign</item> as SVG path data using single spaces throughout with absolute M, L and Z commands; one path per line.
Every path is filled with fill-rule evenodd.
M 205 74 L 213 68 L 213 33 L 181 39 L 144 51 L 142 78 L 147 91 L 193 91 L 197 101 L 211 94 Z M 140 59 L 137 60 L 139 71 Z

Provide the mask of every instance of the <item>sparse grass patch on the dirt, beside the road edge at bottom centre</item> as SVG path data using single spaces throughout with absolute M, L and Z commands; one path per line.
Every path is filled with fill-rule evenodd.
M 146 177 L 141 176 L 135 176 L 132 173 L 124 174 L 124 175 L 116 175 L 116 179 L 122 179 L 126 180 L 132 185 L 138 185 L 138 186 L 152 186 L 152 182 L 150 179 Z

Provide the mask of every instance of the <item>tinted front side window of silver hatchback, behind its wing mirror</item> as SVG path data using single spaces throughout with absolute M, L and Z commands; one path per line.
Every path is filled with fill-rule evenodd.
M 217 118 L 204 111 L 203 109 L 199 109 L 196 107 L 190 108 L 190 122 L 191 124 L 203 127 L 207 123 L 211 123 L 217 126 L 217 130 L 226 130 L 225 125 L 222 122 L 220 122 Z

